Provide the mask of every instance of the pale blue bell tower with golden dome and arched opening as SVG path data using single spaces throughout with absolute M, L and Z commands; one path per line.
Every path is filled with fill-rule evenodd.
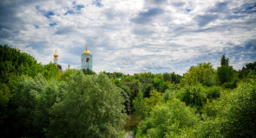
M 81 55 L 81 68 L 93 70 L 93 55 L 89 52 L 87 43 L 86 50 Z

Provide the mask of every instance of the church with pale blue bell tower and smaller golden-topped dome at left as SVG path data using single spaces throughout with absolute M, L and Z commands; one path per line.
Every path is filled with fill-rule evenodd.
M 62 72 L 62 66 L 58 64 L 58 54 L 57 51 L 54 54 L 54 64 L 59 69 L 59 72 Z M 81 55 L 81 69 L 89 68 L 91 71 L 93 70 L 93 55 L 88 50 L 88 44 L 86 43 L 86 49 Z

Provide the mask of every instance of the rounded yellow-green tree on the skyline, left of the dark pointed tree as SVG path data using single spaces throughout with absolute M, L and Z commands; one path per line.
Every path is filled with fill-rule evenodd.
M 183 85 L 215 85 L 215 70 L 211 63 L 199 63 L 198 66 L 190 67 L 189 72 L 185 73 L 181 82 Z

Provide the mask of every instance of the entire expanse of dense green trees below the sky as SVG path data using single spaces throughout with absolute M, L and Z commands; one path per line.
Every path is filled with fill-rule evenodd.
M 123 137 L 131 114 L 139 138 L 256 135 L 256 62 L 235 71 L 223 54 L 216 70 L 199 63 L 183 76 L 60 73 L 16 48 L 0 53 L 0 135 Z

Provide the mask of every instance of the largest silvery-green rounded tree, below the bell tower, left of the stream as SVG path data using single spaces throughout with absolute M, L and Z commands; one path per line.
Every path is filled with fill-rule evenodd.
M 119 137 L 125 113 L 121 90 L 106 75 L 75 72 L 62 100 L 49 110 L 49 137 Z

